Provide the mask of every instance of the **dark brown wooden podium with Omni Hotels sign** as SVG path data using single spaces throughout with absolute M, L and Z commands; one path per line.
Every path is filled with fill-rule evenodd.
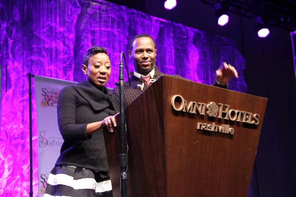
M 179 96 L 172 101 L 176 95 L 187 107 Z M 198 107 L 190 109 L 190 101 L 201 113 L 205 109 L 204 115 Z M 266 98 L 160 77 L 125 108 L 128 197 L 247 197 L 266 103 Z M 231 110 L 228 120 L 225 105 Z M 213 124 L 218 131 L 209 131 Z M 231 128 L 233 134 L 227 133 Z M 104 137 L 113 197 L 120 197 L 119 128 Z

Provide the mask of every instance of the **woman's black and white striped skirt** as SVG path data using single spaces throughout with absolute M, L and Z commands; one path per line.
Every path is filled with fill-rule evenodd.
M 86 168 L 55 166 L 48 176 L 44 197 L 112 197 L 111 180 Z

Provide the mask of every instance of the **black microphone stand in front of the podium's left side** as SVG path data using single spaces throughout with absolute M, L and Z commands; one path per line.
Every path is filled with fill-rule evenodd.
M 127 76 L 129 80 L 129 85 L 124 85 L 124 75 L 123 75 L 123 63 L 122 55 L 124 57 L 125 66 L 127 70 Z M 126 151 L 126 128 L 125 128 L 125 116 L 124 116 L 124 86 L 130 86 L 130 78 L 128 75 L 128 69 L 125 60 L 125 54 L 122 52 L 120 54 L 119 63 L 119 114 L 120 114 L 120 155 L 119 155 L 119 165 L 120 165 L 120 190 L 121 197 L 127 197 L 127 151 Z

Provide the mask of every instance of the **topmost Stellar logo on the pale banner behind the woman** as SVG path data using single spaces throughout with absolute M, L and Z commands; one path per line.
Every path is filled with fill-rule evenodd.
M 43 96 L 41 100 L 42 106 L 46 107 L 57 107 L 58 97 L 61 92 L 60 89 L 55 88 L 42 88 L 41 95 Z

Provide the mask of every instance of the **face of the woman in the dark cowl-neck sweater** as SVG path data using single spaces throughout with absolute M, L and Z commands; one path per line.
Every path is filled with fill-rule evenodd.
M 88 65 L 82 65 L 88 81 L 98 87 L 105 86 L 111 74 L 111 63 L 109 56 L 105 53 L 97 53 L 88 60 Z

